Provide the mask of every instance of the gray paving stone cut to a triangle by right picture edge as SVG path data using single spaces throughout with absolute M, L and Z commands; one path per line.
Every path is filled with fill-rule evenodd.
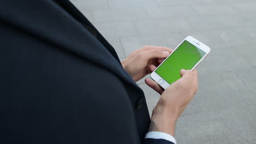
M 256 95 L 256 69 L 236 71 L 236 74 L 242 79 L 247 87 Z

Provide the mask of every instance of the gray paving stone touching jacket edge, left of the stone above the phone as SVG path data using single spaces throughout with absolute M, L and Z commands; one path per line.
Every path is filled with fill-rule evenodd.
M 96 22 L 94 25 L 104 36 L 138 35 L 132 22 Z

